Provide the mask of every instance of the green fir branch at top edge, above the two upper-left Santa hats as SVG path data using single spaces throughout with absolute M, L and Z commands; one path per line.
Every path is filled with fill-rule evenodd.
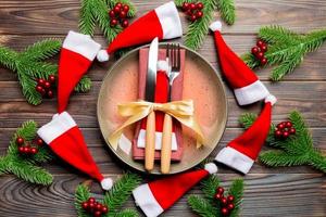
M 110 25 L 109 11 L 116 2 L 123 2 L 129 5 L 128 17 L 134 17 L 136 8 L 129 0 L 82 0 L 79 30 L 83 34 L 92 36 L 96 24 L 102 30 L 104 37 L 111 42 L 116 35 L 122 31 L 121 26 L 112 27 Z

